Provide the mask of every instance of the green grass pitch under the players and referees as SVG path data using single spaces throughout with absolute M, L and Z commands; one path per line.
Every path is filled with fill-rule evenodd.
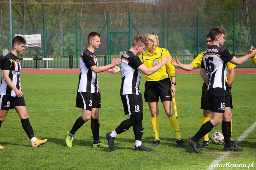
M 208 169 L 210 164 L 225 153 L 223 146 L 213 145 L 200 148 L 202 154 L 193 152 L 187 139 L 201 127 L 201 87 L 199 74 L 176 75 L 176 102 L 178 122 L 184 148 L 177 148 L 173 129 L 159 103 L 161 146 L 152 152 L 136 152 L 132 127 L 118 135 L 115 151 L 110 148 L 92 148 L 93 137 L 90 121 L 86 122 L 74 136 L 72 148 L 66 146 L 66 132 L 82 115 L 75 107 L 79 74 L 22 73 L 21 86 L 26 101 L 29 120 L 36 137 L 48 141 L 43 146 L 32 148 L 24 132 L 20 117 L 10 110 L 1 125 L 0 150 L 1 169 Z M 145 76 L 141 75 L 140 91 L 144 94 Z M 121 74 L 100 74 L 101 89 L 100 139 L 107 143 L 105 134 L 112 132 L 129 116 L 124 115 L 120 99 Z M 232 85 L 233 131 L 232 138 L 238 139 L 247 128 L 255 123 L 255 75 L 236 74 Z M 144 99 L 144 97 L 143 97 Z M 151 148 L 154 140 L 150 123 L 150 110 L 144 102 L 142 144 Z M 214 127 L 209 136 L 221 131 Z M 256 129 L 239 143 L 244 152 L 230 152 L 220 163 L 249 164 L 256 157 Z M 202 139 L 203 140 L 203 139 Z M 201 141 L 201 140 L 200 140 Z M 254 162 L 254 168 L 256 162 Z M 223 169 L 223 168 L 214 168 Z M 228 168 L 232 169 L 232 168 Z M 248 169 L 233 168 L 233 169 Z M 253 169 L 253 168 L 252 168 Z

